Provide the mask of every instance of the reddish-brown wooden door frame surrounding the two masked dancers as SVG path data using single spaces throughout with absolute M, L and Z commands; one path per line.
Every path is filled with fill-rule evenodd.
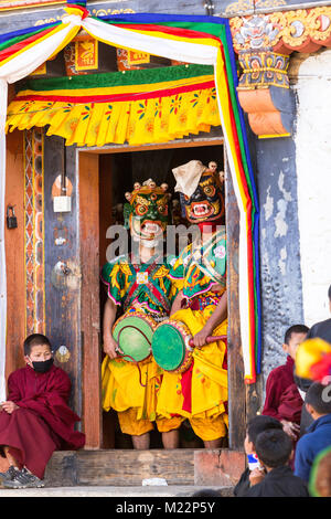
M 181 139 L 161 145 L 131 147 L 129 145 L 113 145 L 103 148 L 78 148 L 77 171 L 79 191 L 79 227 L 81 227 L 81 265 L 82 265 L 82 347 L 83 347 L 83 416 L 84 431 L 87 437 L 87 448 L 100 448 L 103 445 L 102 425 L 102 381 L 100 381 L 100 315 L 99 315 L 99 277 L 98 277 L 98 244 L 99 206 L 98 206 L 98 156 L 103 153 L 137 152 L 146 150 L 220 146 L 225 150 L 221 137 Z M 82 178 L 82 156 L 87 159 L 87 170 L 83 176 L 90 180 L 89 189 L 84 189 Z M 83 159 L 85 160 L 85 159 Z M 241 322 L 238 299 L 238 240 L 239 213 L 233 189 L 233 182 L 224 152 L 226 172 L 226 234 L 227 234 L 227 292 L 228 297 L 228 422 L 229 448 L 242 449 L 246 431 L 246 388 L 244 383 L 244 362 L 241 348 Z M 94 172 L 93 172 L 94 169 Z M 97 173 L 96 173 L 97 170 Z M 97 180 L 97 182 L 96 182 Z M 86 188 L 86 186 L 85 186 Z M 93 189 L 92 189 L 93 188 Z M 93 191 L 93 192 L 92 192 Z M 82 208 L 86 203 L 97 204 L 92 213 L 84 214 Z M 84 205 L 85 204 L 85 205 Z M 88 240 L 87 240 L 88 236 Z M 87 242 L 86 242 L 87 240 Z M 87 246 L 83 246 L 86 243 Z M 84 272 L 86 262 L 90 264 Z M 96 282 L 97 279 L 97 282 Z

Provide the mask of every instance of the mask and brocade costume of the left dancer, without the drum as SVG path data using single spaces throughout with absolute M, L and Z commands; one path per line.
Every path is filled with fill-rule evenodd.
M 163 240 L 168 224 L 170 194 L 167 190 L 167 183 L 158 187 L 149 179 L 142 186 L 136 182 L 134 191 L 125 194 L 128 201 L 124 208 L 125 224 L 138 248 L 145 247 L 145 256 L 146 250 L 150 254 L 147 254 L 149 260 L 142 264 L 131 253 L 115 258 L 103 268 L 102 280 L 107 285 L 108 297 L 124 310 L 122 322 L 126 316 L 138 313 L 149 316 L 149 321 L 152 319 L 157 325 L 170 313 L 175 296 L 174 285 L 169 277 L 170 265 L 153 248 Z M 125 340 L 126 345 L 130 341 Z M 140 436 L 153 428 L 152 422 L 157 423 L 162 433 L 180 425 L 175 417 L 169 420 L 157 416 L 157 392 L 161 374 L 152 356 L 145 357 L 138 363 L 120 356 L 113 360 L 109 356 L 105 357 L 102 367 L 103 407 L 105 411 L 117 411 L 122 433 Z

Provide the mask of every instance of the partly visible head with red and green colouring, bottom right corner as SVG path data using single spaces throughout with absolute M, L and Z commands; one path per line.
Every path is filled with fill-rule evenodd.
M 313 497 L 331 497 L 331 447 L 324 448 L 313 460 L 309 494 Z

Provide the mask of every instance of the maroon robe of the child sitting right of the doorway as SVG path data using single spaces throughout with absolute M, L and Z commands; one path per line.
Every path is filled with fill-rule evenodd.
M 303 401 L 295 384 L 293 367 L 295 361 L 288 356 L 286 364 L 275 368 L 269 373 L 261 414 L 300 425 Z

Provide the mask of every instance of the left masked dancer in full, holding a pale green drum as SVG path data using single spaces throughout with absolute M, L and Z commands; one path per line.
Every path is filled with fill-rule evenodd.
M 159 253 L 168 224 L 170 194 L 167 190 L 167 184 L 157 187 L 149 180 L 142 186 L 136 182 L 134 191 L 126 193 L 125 222 L 134 239 L 135 251 L 115 257 L 102 269 L 108 295 L 103 321 L 106 353 L 102 367 L 103 407 L 117 411 L 121 432 L 129 434 L 134 447 L 139 449 L 149 447 L 153 422 L 162 433 L 166 448 L 178 447 L 179 441 L 180 419 L 157 416 L 162 370 L 151 354 L 138 363 L 124 357 L 125 348 L 131 357 L 130 348 L 137 343 L 141 346 L 145 341 L 149 346 L 148 326 L 156 326 L 169 315 L 175 296 L 169 277 L 170 265 Z M 118 308 L 124 313 L 120 322 L 116 320 Z M 119 336 L 115 336 L 114 325 L 125 328 L 120 331 L 122 345 Z

